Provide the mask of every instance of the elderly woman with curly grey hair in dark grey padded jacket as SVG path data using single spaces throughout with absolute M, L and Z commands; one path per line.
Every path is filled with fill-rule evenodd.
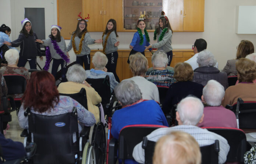
M 225 89 L 228 87 L 228 76 L 214 67 L 216 59 L 208 50 L 199 52 L 197 59 L 199 67 L 194 70 L 193 81 L 205 86 L 209 80 L 218 81 Z

